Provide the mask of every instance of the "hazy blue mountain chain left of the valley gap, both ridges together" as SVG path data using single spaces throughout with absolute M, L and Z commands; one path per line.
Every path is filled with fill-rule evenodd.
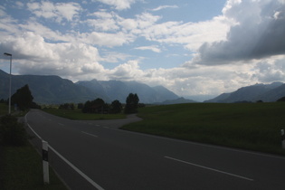
M 25 84 L 29 85 L 33 101 L 46 104 L 85 102 L 103 99 L 106 102 L 126 102 L 129 93 L 137 93 L 139 102 L 154 103 L 176 100 L 179 97 L 163 86 L 149 87 L 137 81 L 72 81 L 59 76 L 12 75 L 12 94 Z M 9 74 L 0 70 L 0 99 L 8 99 Z

